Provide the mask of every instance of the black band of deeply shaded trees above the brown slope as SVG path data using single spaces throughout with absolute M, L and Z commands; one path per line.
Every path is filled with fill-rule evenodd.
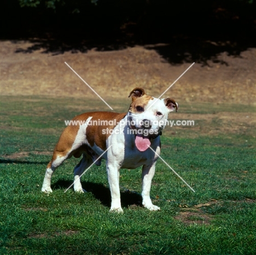
M 8 20 L 1 25 L 0 39 L 33 44 L 16 49 L 17 53 L 41 49 L 42 54 L 75 54 L 141 45 L 156 50 L 171 64 L 207 65 L 210 60 L 228 65 L 219 60 L 219 54 L 240 56 L 256 47 L 256 1 L 112 0 L 98 1 L 97 6 L 90 1 L 67 1 L 57 5 L 56 11 L 43 5 L 20 8 L 18 1 L 10 1 L 0 12 L 0 21 Z M 75 8 L 79 12 L 72 13 Z

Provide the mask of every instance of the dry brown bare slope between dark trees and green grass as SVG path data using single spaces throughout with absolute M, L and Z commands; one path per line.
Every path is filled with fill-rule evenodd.
M 126 97 L 134 87 L 143 87 L 157 97 L 190 66 L 168 63 L 150 45 L 59 55 L 43 53 L 43 48 L 24 53 L 32 46 L 27 41 L 0 41 L 1 95 L 94 97 L 67 62 L 103 98 Z M 223 52 L 218 60 L 205 66 L 194 64 L 165 96 L 178 102 L 255 105 L 256 49 L 247 49 L 236 57 Z

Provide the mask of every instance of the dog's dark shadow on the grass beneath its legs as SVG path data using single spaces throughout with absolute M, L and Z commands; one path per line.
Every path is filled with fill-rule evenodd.
M 101 201 L 101 204 L 107 207 L 111 205 L 111 195 L 110 190 L 108 187 L 105 187 L 101 183 L 94 183 L 94 182 L 81 182 L 82 187 L 87 191 L 91 192 L 94 197 Z M 53 190 L 55 189 L 67 189 L 69 186 L 72 185 L 71 181 L 66 180 L 59 180 L 53 183 L 52 187 Z M 73 187 L 71 187 L 73 188 Z M 136 192 L 127 191 L 120 191 L 121 195 L 121 206 L 122 207 L 129 207 L 131 205 L 136 205 L 141 207 L 142 206 L 142 197 L 140 194 Z

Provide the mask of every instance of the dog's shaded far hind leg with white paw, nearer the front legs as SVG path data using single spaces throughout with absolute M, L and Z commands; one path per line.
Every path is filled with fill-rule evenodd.
M 74 191 L 75 192 L 86 192 L 85 189 L 82 188 L 80 182 L 80 176 L 84 173 L 84 170 L 92 164 L 92 159 L 89 155 L 83 153 L 83 158 L 74 168 Z

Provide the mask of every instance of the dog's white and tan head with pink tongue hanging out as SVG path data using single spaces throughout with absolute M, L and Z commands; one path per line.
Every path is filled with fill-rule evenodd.
M 143 88 L 134 88 L 129 97 L 132 103 L 128 112 L 128 124 L 135 134 L 135 144 L 139 151 L 145 151 L 150 141 L 165 128 L 168 113 L 178 110 L 172 98 L 158 99 L 147 96 Z

